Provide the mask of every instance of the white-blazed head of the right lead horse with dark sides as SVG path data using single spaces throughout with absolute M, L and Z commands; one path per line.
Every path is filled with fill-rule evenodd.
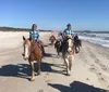
M 72 36 L 66 36 L 65 42 L 66 42 L 66 45 L 68 45 L 66 47 L 66 50 L 68 50 L 69 53 L 71 53 L 72 52 L 72 49 L 74 47 Z

